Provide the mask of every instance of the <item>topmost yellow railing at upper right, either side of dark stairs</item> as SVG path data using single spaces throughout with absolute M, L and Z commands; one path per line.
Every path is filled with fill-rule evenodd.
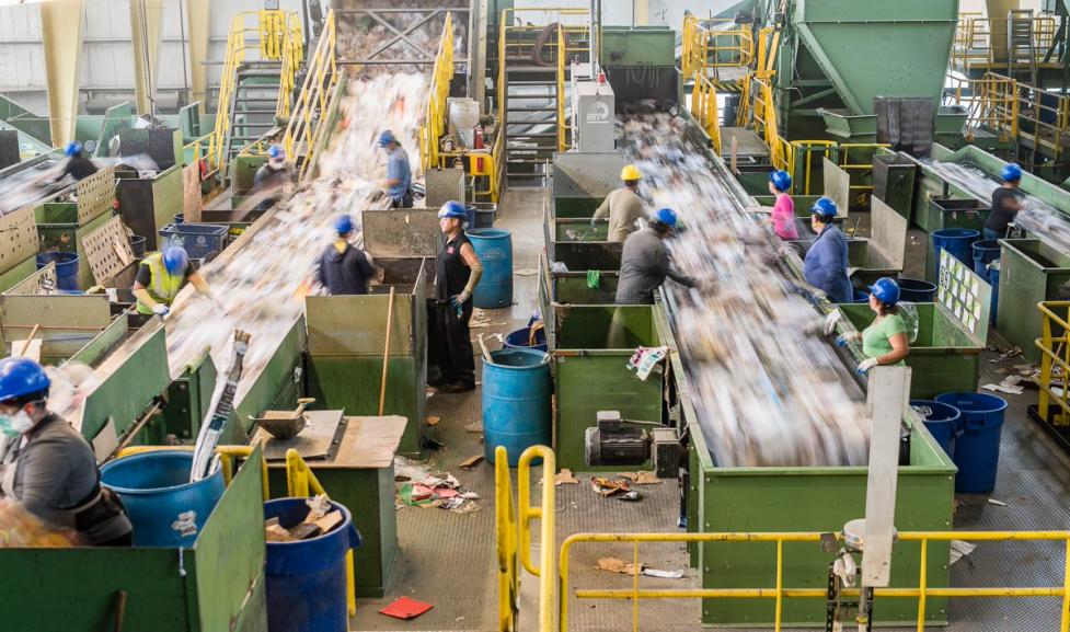
M 1005 65 L 1008 60 L 1006 18 L 988 19 L 981 13 L 959 13 L 955 41 L 952 45 L 952 68 Z M 1055 42 L 1058 22 L 1052 15 L 1040 14 L 1032 19 L 1033 62 L 1043 62 Z M 1054 59 L 1051 64 L 1058 65 Z

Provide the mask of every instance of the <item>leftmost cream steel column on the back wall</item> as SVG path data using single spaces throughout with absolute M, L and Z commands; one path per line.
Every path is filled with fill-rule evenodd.
M 41 4 L 48 118 L 54 147 L 61 147 L 74 139 L 84 19 L 82 5 L 83 0 L 57 0 Z

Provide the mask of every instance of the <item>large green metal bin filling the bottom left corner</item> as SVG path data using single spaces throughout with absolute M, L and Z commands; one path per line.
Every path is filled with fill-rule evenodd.
M 0 548 L 4 628 L 266 632 L 260 459 L 257 448 L 181 552 Z

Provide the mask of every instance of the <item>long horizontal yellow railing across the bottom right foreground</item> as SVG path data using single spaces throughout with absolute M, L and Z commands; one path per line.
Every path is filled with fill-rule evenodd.
M 552 486 L 552 485 L 550 485 Z M 950 542 L 957 539 L 983 542 L 1063 542 L 1065 565 L 1063 584 L 1061 586 L 1037 587 L 954 587 L 934 588 L 929 586 L 929 543 Z M 638 604 L 643 599 L 770 599 L 773 601 L 773 629 L 782 630 L 783 607 L 787 599 L 826 599 L 827 588 L 791 588 L 784 587 L 784 543 L 786 542 L 820 542 L 821 533 L 816 532 L 783 532 L 783 533 L 577 533 L 569 536 L 561 545 L 559 560 L 559 630 L 568 630 L 568 598 L 576 599 L 612 599 L 632 601 L 632 629 L 638 631 Z M 1058 598 L 1062 602 L 1058 630 L 1070 631 L 1070 531 L 913 531 L 899 533 L 900 542 L 920 542 L 920 572 L 918 585 L 909 588 L 874 588 L 874 599 L 917 599 L 918 618 L 917 630 L 925 630 L 925 610 L 929 597 L 962 597 L 962 598 Z M 633 564 L 635 571 L 632 576 L 631 589 L 576 589 L 569 588 L 568 568 L 572 549 L 579 543 L 591 542 L 631 542 Z M 641 542 L 768 542 L 775 545 L 775 579 L 771 587 L 758 588 L 692 588 L 692 589 L 644 589 L 640 588 L 638 545 Z M 859 589 L 847 589 L 848 597 L 859 596 Z M 540 628 L 549 631 L 551 628 Z

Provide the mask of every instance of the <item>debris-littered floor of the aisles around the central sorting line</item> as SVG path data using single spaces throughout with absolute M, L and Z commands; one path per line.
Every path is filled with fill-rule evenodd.
M 481 332 L 505 334 L 521 328 L 538 307 L 538 275 L 528 272 L 538 269 L 543 249 L 541 196 L 542 189 L 510 189 L 499 206 L 495 226 L 513 232 L 515 304 L 511 309 L 488 310 L 492 326 L 473 330 L 474 335 Z M 862 218 L 860 234 L 865 235 L 868 217 L 862 214 Z M 924 233 L 911 230 L 908 235 L 907 276 L 924 276 Z M 989 342 L 1002 344 L 994 332 Z M 491 349 L 498 346 L 497 341 L 488 343 Z M 1002 378 L 996 372 L 999 368 L 1021 363 L 1021 359 L 1013 358 L 998 364 L 990 361 L 994 357 L 991 352 L 983 355 L 981 384 L 998 382 Z M 1001 397 L 1005 397 L 1010 406 L 1002 434 L 1000 475 L 992 497 L 1005 502 L 1006 506 L 991 505 L 985 497 L 960 497 L 955 529 L 1066 529 L 1070 459 L 1026 416 L 1026 406 L 1036 401 L 1035 391 Z M 464 429 L 464 426 L 480 420 L 480 391 L 435 395 L 430 399 L 428 414 L 441 417 L 435 430 L 437 438 L 445 444 L 430 457 L 428 466 L 433 470 L 453 473 L 467 489 L 479 493 L 481 508 L 467 515 L 441 509 L 399 509 L 401 552 L 390 591 L 386 598 L 358 602 L 358 613 L 350 622 L 353 630 L 497 629 L 494 470 L 488 463 L 468 472 L 458 468 L 462 460 L 483 451 L 480 435 Z M 539 475 L 537 472 L 533 476 L 537 481 L 533 497 L 541 493 Z M 560 549 L 565 537 L 576 532 L 677 530 L 678 490 L 672 482 L 642 487 L 644 499 L 628 504 L 595 495 L 588 483 L 589 475 L 577 473 L 576 478 L 579 484 L 556 487 L 555 549 Z M 968 539 L 965 533 L 964 539 Z M 538 542 L 534 548 L 538 551 Z M 576 549 L 572 560 L 571 587 L 629 587 L 630 577 L 597 571 L 595 566 L 599 558 L 630 560 L 632 550 L 628 544 Z M 1063 547 L 1059 544 L 983 543 L 952 566 L 952 583 L 956 586 L 1059 585 L 1063 555 Z M 694 572 L 688 568 L 688 558 L 682 547 L 644 547 L 641 559 L 651 567 L 684 572 L 682 579 L 644 577 L 644 587 L 698 587 Z M 401 596 L 428 601 L 434 609 L 409 622 L 377 612 Z M 521 582 L 521 630 L 538 630 L 537 609 L 538 579 L 525 573 Z M 569 600 L 569 629 L 589 632 L 629 630 L 631 610 L 628 601 L 576 602 L 573 598 Z M 951 620 L 951 624 L 944 628 L 947 632 L 1057 630 L 1059 605 L 1056 599 L 959 599 L 952 602 L 947 614 Z M 699 616 L 699 602 L 695 600 L 646 601 L 640 609 L 640 629 L 694 630 L 700 627 Z

